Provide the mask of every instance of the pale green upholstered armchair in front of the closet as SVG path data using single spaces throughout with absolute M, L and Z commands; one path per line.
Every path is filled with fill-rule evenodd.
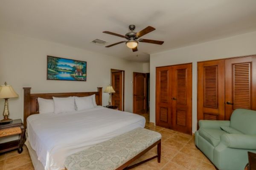
M 243 170 L 256 153 L 256 111 L 236 109 L 230 121 L 200 120 L 195 145 L 219 170 Z

